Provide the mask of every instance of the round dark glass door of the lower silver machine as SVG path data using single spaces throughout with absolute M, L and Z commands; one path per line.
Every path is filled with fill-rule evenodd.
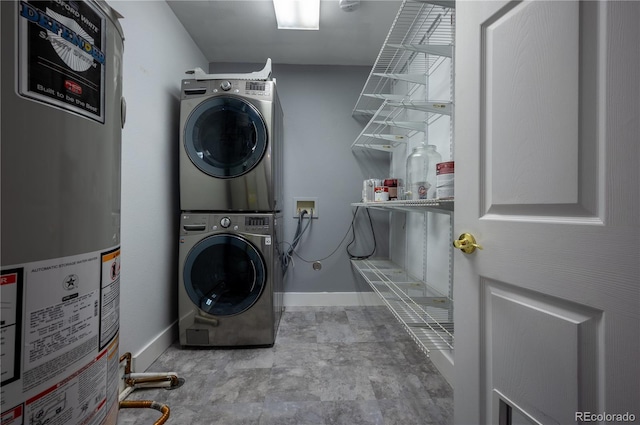
M 256 247 L 230 234 L 198 242 L 185 260 L 184 286 L 206 313 L 230 316 L 250 308 L 266 284 L 266 267 Z

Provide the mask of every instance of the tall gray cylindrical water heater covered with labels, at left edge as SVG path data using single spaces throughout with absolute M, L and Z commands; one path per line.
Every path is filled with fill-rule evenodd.
M 3 424 L 117 422 L 119 17 L 0 2 Z

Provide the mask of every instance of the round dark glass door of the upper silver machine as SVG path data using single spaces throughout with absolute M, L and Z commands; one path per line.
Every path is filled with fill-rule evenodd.
M 248 173 L 267 150 L 267 128 L 252 104 L 218 96 L 198 105 L 185 123 L 184 144 L 202 172 L 218 178 Z

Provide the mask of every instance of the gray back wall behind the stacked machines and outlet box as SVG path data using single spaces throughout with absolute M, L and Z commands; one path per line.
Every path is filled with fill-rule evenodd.
M 266 58 L 265 58 L 266 61 Z M 262 64 L 212 63 L 210 73 L 251 72 Z M 285 281 L 285 292 L 369 291 L 357 277 L 345 250 L 354 209 L 366 178 L 384 178 L 389 158 L 384 152 L 352 152 L 351 143 L 362 125 L 351 111 L 369 74 L 369 67 L 273 65 L 273 77 L 284 111 L 284 233 L 291 242 L 297 219 L 294 197 L 318 199 L 319 218 L 314 219 L 297 252 L 305 260 L 322 260 L 315 271 L 300 257 L 293 257 Z M 365 156 L 367 161 L 359 161 Z M 363 168 L 366 167 L 366 168 Z M 376 232 L 376 256 L 388 256 L 388 217 L 372 212 Z M 364 211 L 356 220 L 356 244 L 352 253 L 369 253 L 371 229 Z M 284 247 L 286 248 L 286 244 Z

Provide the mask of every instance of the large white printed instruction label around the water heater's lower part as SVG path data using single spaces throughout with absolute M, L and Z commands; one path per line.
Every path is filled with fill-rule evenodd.
M 0 423 L 115 424 L 120 247 L 6 266 L 0 283 Z

